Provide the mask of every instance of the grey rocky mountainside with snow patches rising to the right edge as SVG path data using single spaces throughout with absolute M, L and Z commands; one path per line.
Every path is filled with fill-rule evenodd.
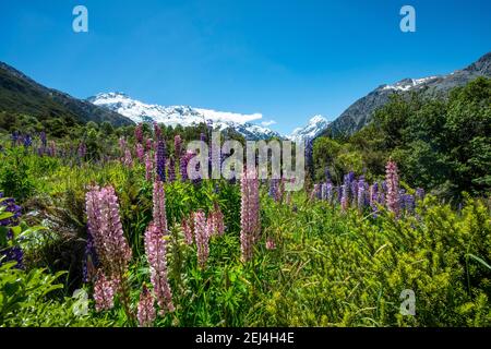
M 491 76 L 491 52 L 469 67 L 448 75 L 424 79 L 404 79 L 394 85 L 381 85 L 346 109 L 323 134 L 352 134 L 371 120 L 373 112 L 384 106 L 390 96 L 397 93 L 408 95 L 420 91 L 428 97 L 444 96 L 450 89 L 464 86 L 478 76 Z

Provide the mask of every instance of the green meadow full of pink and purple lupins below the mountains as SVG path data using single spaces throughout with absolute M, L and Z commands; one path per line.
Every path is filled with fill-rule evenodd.
M 190 180 L 184 136 L 133 129 L 2 135 L 0 326 L 491 324 L 486 196 L 445 203 L 393 160 L 296 192 Z

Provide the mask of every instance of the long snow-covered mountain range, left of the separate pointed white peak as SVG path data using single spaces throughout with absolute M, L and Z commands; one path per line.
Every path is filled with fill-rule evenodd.
M 87 98 L 92 104 L 116 111 L 135 123 L 158 122 L 166 125 L 182 127 L 197 125 L 202 122 L 211 123 L 220 131 L 233 129 L 247 140 L 266 140 L 278 136 L 267 128 L 251 123 L 262 118 L 260 113 L 242 115 L 236 112 L 216 111 L 211 109 L 193 108 L 189 106 L 148 105 L 135 100 L 122 93 L 105 93 Z

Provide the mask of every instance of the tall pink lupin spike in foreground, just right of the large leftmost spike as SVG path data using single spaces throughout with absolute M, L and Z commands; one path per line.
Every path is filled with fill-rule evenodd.
M 145 232 L 145 253 L 151 270 L 151 281 L 157 299 L 160 314 L 173 312 L 172 292 L 167 277 L 167 255 L 164 234 L 160 229 L 151 224 Z

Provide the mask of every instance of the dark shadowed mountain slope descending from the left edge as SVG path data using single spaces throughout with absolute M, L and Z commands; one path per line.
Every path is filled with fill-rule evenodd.
M 3 62 L 0 62 L 0 111 L 27 113 L 40 119 L 72 118 L 82 123 L 109 121 L 118 127 L 132 124 L 131 120 L 117 112 L 45 87 Z

